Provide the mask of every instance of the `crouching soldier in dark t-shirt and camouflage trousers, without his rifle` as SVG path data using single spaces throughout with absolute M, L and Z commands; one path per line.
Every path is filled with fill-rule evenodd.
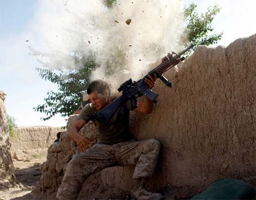
M 149 79 L 145 79 L 145 82 L 152 89 L 157 79 L 156 74 L 155 78 L 148 77 Z M 160 142 L 156 139 L 143 141 L 132 139 L 129 130 L 131 101 L 121 106 L 112 116 L 110 125 L 105 126 L 93 119 L 92 113 L 111 104 L 109 84 L 102 80 L 95 80 L 89 85 L 87 93 L 91 104 L 83 107 L 70 130 L 70 137 L 80 147 L 80 152 L 75 154 L 68 163 L 56 197 L 76 199 L 83 181 L 90 174 L 111 166 L 136 165 L 132 196 L 137 199 L 162 199 L 163 196 L 160 193 L 152 193 L 144 187 L 145 179 L 151 178 L 154 173 Z M 146 97 L 142 97 L 142 101 L 137 102 L 137 105 L 136 112 L 148 114 L 153 110 L 153 102 Z M 84 124 L 90 120 L 95 121 L 98 129 L 98 143 L 94 145 L 91 140 L 78 134 Z

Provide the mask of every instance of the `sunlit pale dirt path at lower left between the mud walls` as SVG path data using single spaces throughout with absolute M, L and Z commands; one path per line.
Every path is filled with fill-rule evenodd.
M 40 166 L 46 161 L 47 149 L 26 152 L 24 160 L 13 160 L 17 184 L 11 188 L 0 190 L 0 200 L 28 200 L 29 194 L 40 180 Z

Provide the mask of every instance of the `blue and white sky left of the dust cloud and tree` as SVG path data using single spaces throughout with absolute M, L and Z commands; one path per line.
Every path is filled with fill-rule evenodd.
M 60 117 L 40 121 L 43 115 L 32 109 L 44 102 L 48 90 L 57 89 L 39 78 L 35 67 L 40 65 L 28 56 L 28 45 L 37 39 L 31 29 L 37 6 L 34 0 L 0 0 L 0 89 L 7 94 L 7 113 L 18 126 L 65 126 Z

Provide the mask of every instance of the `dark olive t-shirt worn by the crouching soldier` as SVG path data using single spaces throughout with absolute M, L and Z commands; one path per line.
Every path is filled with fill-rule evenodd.
M 95 122 L 98 130 L 98 143 L 116 144 L 132 139 L 129 129 L 130 110 L 131 101 L 128 101 L 125 105 L 118 108 L 111 117 L 109 125 L 106 126 L 92 118 L 93 112 L 97 112 L 98 110 L 92 104 L 87 104 L 81 110 L 78 119 L 83 119 L 86 123 L 90 120 Z

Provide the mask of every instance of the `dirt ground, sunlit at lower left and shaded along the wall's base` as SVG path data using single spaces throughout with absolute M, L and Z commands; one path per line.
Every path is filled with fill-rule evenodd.
M 30 192 L 40 180 L 40 166 L 46 161 L 46 156 L 47 149 L 39 149 L 37 151 L 26 152 L 24 160 L 13 160 L 17 184 L 11 188 L 0 190 L 0 200 L 32 200 Z M 245 181 L 250 183 L 250 180 Z M 253 181 L 255 181 L 255 177 L 251 181 L 251 184 L 254 185 Z M 198 188 L 194 187 L 168 186 L 162 188 L 159 192 L 166 199 L 187 200 L 205 189 L 204 187 L 198 191 Z M 124 196 L 121 199 L 127 199 L 127 197 Z M 130 196 L 128 199 L 130 199 Z

